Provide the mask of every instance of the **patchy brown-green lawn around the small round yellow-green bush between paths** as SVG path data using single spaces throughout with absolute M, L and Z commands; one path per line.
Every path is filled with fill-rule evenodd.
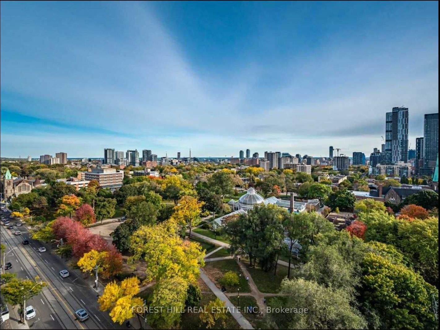
M 210 261 L 205 263 L 205 273 L 209 278 L 221 289 L 221 279 L 227 271 L 234 271 L 237 274 L 242 273 L 240 267 L 234 259 Z M 240 292 L 250 292 L 249 283 L 246 281 L 246 276 L 242 274 L 240 283 L 235 287 L 227 287 L 227 292 L 235 292 L 240 288 Z

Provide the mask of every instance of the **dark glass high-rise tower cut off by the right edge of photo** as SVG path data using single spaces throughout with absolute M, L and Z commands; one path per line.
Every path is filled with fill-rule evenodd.
M 423 172 L 432 175 L 439 152 L 439 114 L 425 114 L 423 121 Z

